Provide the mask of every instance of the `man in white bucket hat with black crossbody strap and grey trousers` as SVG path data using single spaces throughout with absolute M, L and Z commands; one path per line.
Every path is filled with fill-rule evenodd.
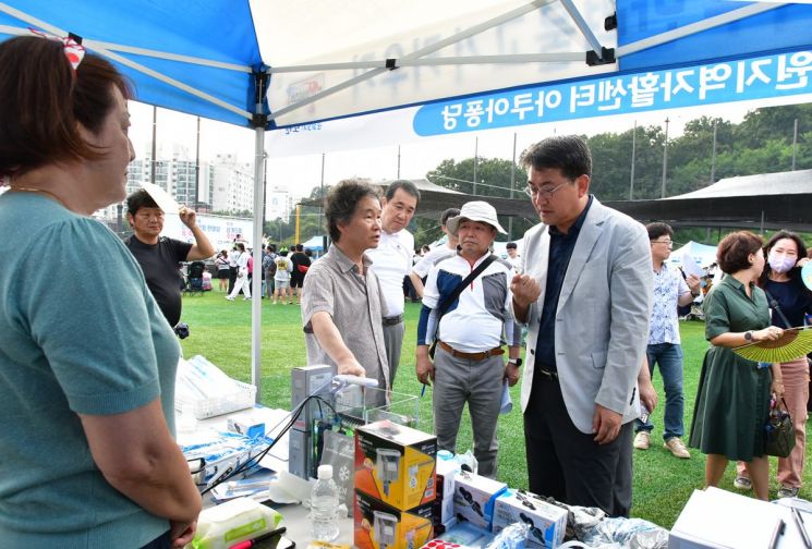
M 478 472 L 495 477 L 502 380 L 516 385 L 521 366 L 521 331 L 510 313 L 513 271 L 510 264 L 490 253 L 496 233 L 505 234 L 493 206 L 478 200 L 466 203 L 447 227 L 459 239 L 459 248 L 428 271 L 417 326 L 417 379 L 422 383 L 434 381 L 438 448 L 456 451 L 462 408 L 468 402 Z M 507 365 L 502 335 L 509 349 Z M 428 346 L 433 340 L 434 363 Z

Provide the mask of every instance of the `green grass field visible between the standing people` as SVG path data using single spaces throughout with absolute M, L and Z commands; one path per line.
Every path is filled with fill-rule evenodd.
M 395 380 L 395 390 L 398 392 L 420 394 L 421 385 L 414 376 L 414 354 L 411 351 L 415 346 L 419 313 L 420 304 L 407 304 L 407 335 L 403 342 L 403 356 Z M 207 292 L 203 296 L 187 296 L 183 300 L 183 320 L 189 324 L 191 330 L 191 335 L 182 342 L 185 356 L 201 354 L 231 377 L 251 381 L 250 302 L 239 298 L 235 302 L 228 302 L 223 294 L 217 291 Z M 681 330 L 686 357 L 683 385 L 688 428 L 707 343 L 704 339 L 704 324 L 682 322 Z M 262 403 L 271 407 L 290 408 L 290 370 L 306 364 L 299 306 L 271 305 L 264 300 L 262 340 Z M 690 460 L 678 460 L 663 449 L 659 441 L 663 435 L 665 395 L 656 371 L 654 385 L 659 393 L 660 404 L 652 414 L 655 424 L 652 448 L 645 452 L 634 451 L 632 515 L 670 528 L 691 492 L 695 488 L 702 488 L 705 460 L 695 450 L 691 451 Z M 518 383 L 511 391 L 516 404 L 513 412 L 499 419 L 498 477 L 513 488 L 526 488 L 523 425 L 518 405 L 519 389 Z M 431 426 L 431 402 L 429 388 L 421 402 L 422 426 Z M 808 442 L 807 455 L 810 455 L 809 446 Z M 458 438 L 458 451 L 464 452 L 469 448 L 471 428 L 465 416 Z M 772 461 L 774 471 L 776 460 Z M 723 488 L 732 489 L 734 475 L 734 465 L 730 464 L 722 483 Z M 809 467 L 804 472 L 803 480 L 804 487 L 799 496 L 812 499 L 812 473 Z M 773 480 L 771 497 L 775 497 L 777 488 L 777 483 Z

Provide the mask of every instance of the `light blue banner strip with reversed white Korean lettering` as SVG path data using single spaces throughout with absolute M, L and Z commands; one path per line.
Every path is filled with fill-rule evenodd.
M 629 114 L 812 93 L 812 51 L 582 82 L 538 85 L 417 109 L 417 135 L 448 135 L 543 122 Z

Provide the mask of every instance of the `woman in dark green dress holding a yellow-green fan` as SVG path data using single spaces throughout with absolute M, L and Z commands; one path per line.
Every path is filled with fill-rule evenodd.
M 705 483 L 718 486 L 728 461 L 747 463 L 755 496 L 766 500 L 769 463 L 764 453 L 764 424 L 773 392 L 771 365 L 742 358 L 732 349 L 776 340 L 783 330 L 769 326 L 764 291 L 755 285 L 764 269 L 760 236 L 740 231 L 719 242 L 716 257 L 727 273 L 704 303 L 705 354 L 693 411 L 690 446 L 707 454 Z

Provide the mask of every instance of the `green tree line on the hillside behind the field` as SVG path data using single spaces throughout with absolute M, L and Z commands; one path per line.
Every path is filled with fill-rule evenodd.
M 663 193 L 664 166 L 665 196 L 696 191 L 725 178 L 812 169 L 812 105 L 755 109 L 748 112 L 741 123 L 701 117 L 688 122 L 681 135 L 669 136 L 667 147 L 664 125 L 583 137 L 592 151 L 591 190 L 598 199 L 627 200 L 630 195 L 635 200 L 653 199 Z M 446 159 L 431 170 L 426 179 L 483 197 L 525 198 L 522 188 L 526 184 L 526 173 L 510 159 Z M 329 186 L 315 187 L 306 200 L 319 200 L 322 193 L 328 190 Z M 326 232 L 322 229 L 324 218 L 318 207 L 302 206 L 301 213 L 300 241 Z M 502 227 L 510 228 L 513 240 L 520 239 L 536 222 L 537 219 L 500 219 Z M 409 229 L 415 235 L 416 245 L 434 242 L 441 235 L 435 219 L 415 217 Z M 265 223 L 265 232 L 272 242 L 293 243 L 294 230 L 294 216 L 287 222 L 277 219 Z M 715 240 L 717 234 L 720 233 L 694 229 L 687 230 L 686 237 L 708 241 Z

